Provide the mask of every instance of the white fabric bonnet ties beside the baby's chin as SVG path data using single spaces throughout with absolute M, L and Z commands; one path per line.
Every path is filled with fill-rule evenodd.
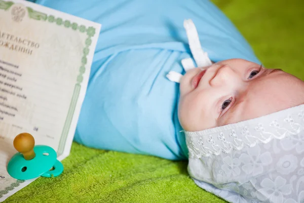
M 186 30 L 186 35 L 188 38 L 189 48 L 193 55 L 193 58 L 200 69 L 207 69 L 210 65 L 212 65 L 212 61 L 209 59 L 208 53 L 204 52 L 201 47 L 201 42 L 199 39 L 198 31 L 195 27 L 194 22 L 191 19 L 185 19 L 183 26 Z M 184 58 L 181 60 L 181 64 L 183 69 L 187 72 L 188 70 L 195 69 L 196 66 L 192 60 L 192 58 Z M 182 74 L 177 73 L 175 71 L 170 71 L 166 77 L 176 83 L 180 83 Z

